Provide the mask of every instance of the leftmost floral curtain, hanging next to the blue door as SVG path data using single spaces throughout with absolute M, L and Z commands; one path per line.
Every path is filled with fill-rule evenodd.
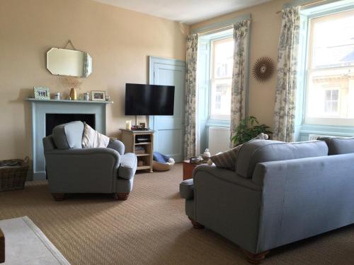
M 197 76 L 198 34 L 187 37 L 185 64 L 185 139 L 184 156 L 195 156 L 195 109 Z

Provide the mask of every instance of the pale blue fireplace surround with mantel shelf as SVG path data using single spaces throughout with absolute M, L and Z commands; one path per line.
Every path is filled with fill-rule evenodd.
M 42 139 L 45 137 L 45 114 L 94 114 L 95 129 L 105 134 L 105 109 L 110 101 L 36 100 L 28 98 L 32 108 L 33 180 L 46 179 Z

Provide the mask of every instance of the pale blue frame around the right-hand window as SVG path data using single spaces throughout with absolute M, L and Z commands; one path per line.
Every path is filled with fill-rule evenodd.
M 293 4 L 287 4 L 286 7 L 298 6 L 299 1 Z M 304 4 L 303 1 L 301 4 Z M 297 67 L 297 92 L 295 109 L 295 141 L 309 141 L 309 134 L 333 135 L 333 136 L 354 136 L 354 125 L 326 125 L 305 122 L 305 107 L 307 82 L 309 80 L 308 65 L 308 45 L 309 45 L 309 22 L 312 18 L 328 16 L 333 13 L 349 11 L 354 9 L 354 4 L 346 0 L 331 2 L 329 4 L 319 4 L 312 8 L 302 9 L 300 11 L 300 33 L 299 33 L 299 57 Z M 340 96 L 340 95 L 339 95 Z

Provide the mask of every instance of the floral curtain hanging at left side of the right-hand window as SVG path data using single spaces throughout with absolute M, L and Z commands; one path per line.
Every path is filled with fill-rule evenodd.
M 299 24 L 299 6 L 282 11 L 273 129 L 273 139 L 278 141 L 294 141 Z

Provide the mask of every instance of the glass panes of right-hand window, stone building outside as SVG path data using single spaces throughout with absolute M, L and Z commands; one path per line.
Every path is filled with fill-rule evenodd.
M 306 124 L 354 126 L 354 11 L 309 20 Z

